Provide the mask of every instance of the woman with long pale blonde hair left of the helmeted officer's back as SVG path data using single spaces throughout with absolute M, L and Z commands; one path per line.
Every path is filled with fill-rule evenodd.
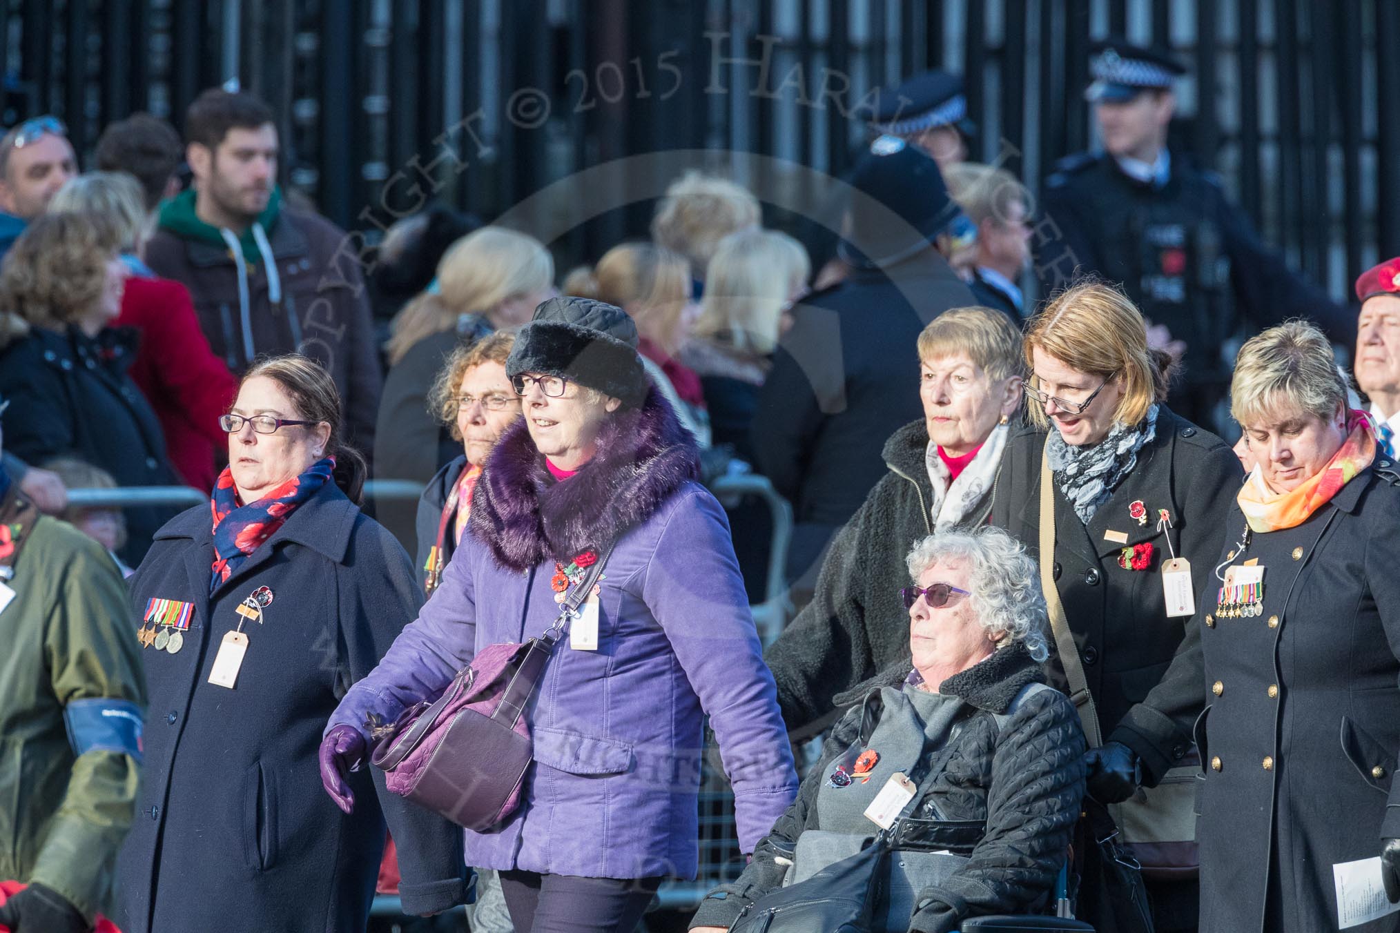
M 699 376 L 715 443 L 750 459 L 749 422 L 792 305 L 806 294 L 812 260 L 802 243 L 771 229 L 720 241 L 682 361 Z

